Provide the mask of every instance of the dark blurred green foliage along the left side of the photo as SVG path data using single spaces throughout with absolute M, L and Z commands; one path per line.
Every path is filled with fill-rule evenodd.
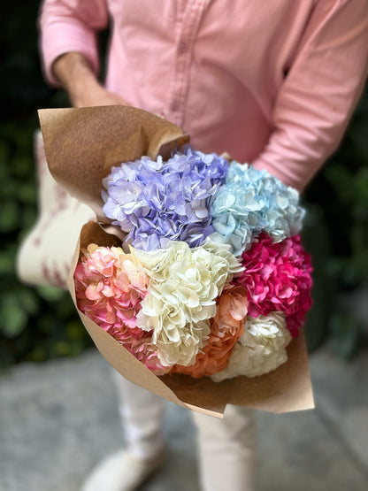
M 67 104 L 42 79 L 35 19 L 39 2 L 2 5 L 0 31 L 0 366 L 74 356 L 91 345 L 69 294 L 29 288 L 15 276 L 19 242 L 35 223 L 36 110 Z M 4 60 L 4 62 L 3 62 Z

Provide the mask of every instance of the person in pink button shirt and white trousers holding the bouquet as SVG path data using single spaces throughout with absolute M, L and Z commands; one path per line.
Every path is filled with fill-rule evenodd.
M 109 24 L 102 84 L 96 33 Z M 366 0 L 45 0 L 40 29 L 46 79 L 73 106 L 162 115 L 194 148 L 229 152 L 299 191 L 341 141 L 368 68 Z M 163 401 L 117 382 L 126 449 L 86 491 L 135 489 L 165 461 Z M 254 489 L 252 411 L 195 421 L 203 490 Z

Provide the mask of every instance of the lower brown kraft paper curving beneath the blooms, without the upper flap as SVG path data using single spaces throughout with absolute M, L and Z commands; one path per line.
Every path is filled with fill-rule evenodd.
M 86 249 L 90 243 L 112 246 L 119 245 L 119 240 L 114 235 L 106 234 L 96 223 L 89 222 L 83 226 L 69 280 L 76 307 L 73 271 L 80 257 L 80 249 Z M 222 382 L 213 382 L 209 377 L 192 379 L 181 374 L 157 377 L 110 334 L 79 310 L 78 313 L 97 349 L 121 375 L 180 406 L 218 418 L 222 418 L 227 403 L 279 413 L 314 407 L 303 335 L 289 345 L 286 364 L 259 377 L 242 376 Z

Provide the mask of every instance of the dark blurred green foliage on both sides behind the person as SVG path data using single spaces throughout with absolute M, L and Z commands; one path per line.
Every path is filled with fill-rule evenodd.
M 35 22 L 37 1 L 6 4 L 0 52 L 0 360 L 43 361 L 75 356 L 91 344 L 65 292 L 28 288 L 14 273 L 19 242 L 36 217 L 33 132 L 36 109 L 59 107 L 65 96 L 42 81 Z M 368 94 L 357 108 L 341 149 L 304 196 L 304 242 L 315 268 L 311 349 L 326 339 L 343 356 L 357 346 L 360 326 L 341 307 L 341 295 L 368 280 Z

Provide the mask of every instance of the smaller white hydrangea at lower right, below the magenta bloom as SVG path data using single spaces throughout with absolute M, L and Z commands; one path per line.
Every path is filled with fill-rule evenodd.
M 272 372 L 288 360 L 286 348 L 291 339 L 282 312 L 271 312 L 267 317 L 248 317 L 244 334 L 235 344 L 227 368 L 211 379 L 219 382 L 238 375 L 256 377 Z

